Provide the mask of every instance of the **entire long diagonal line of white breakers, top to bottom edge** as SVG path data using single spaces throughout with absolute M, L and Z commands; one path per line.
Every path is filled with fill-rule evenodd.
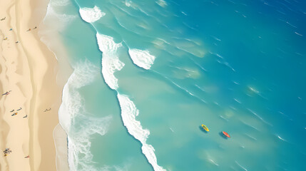
M 76 4 L 78 4 L 76 2 Z M 141 126 L 141 122 L 136 120 L 136 116 L 139 114 L 139 110 L 136 108 L 136 105 L 132 100 L 128 98 L 127 95 L 121 95 L 118 93 L 118 79 L 114 76 L 116 71 L 121 71 L 123 66 L 125 65 L 118 58 L 117 49 L 122 47 L 121 43 L 115 43 L 113 41 L 113 37 L 106 36 L 98 33 L 98 30 L 94 26 L 94 22 L 101 19 L 101 17 L 106 14 L 101 15 L 101 10 L 98 7 L 94 7 L 94 9 L 86 8 L 84 12 L 84 8 L 82 9 L 79 6 L 79 13 L 81 18 L 91 24 L 93 28 L 96 30 L 96 38 L 98 41 L 98 47 L 102 54 L 102 76 L 104 81 L 108 85 L 109 88 L 116 90 L 117 98 L 121 107 L 121 119 L 123 120 L 123 124 L 126 126 L 128 133 L 133 135 L 134 138 L 139 140 L 142 144 L 141 150 L 143 154 L 146 156 L 148 162 L 152 165 L 155 171 L 165 171 L 163 167 L 160 167 L 157 164 L 156 155 L 154 153 L 155 149 L 152 145 L 148 145 L 146 140 L 148 139 L 148 135 L 150 135 L 150 131 L 143 129 Z M 90 11 L 90 12 L 89 12 Z M 98 16 L 98 17 L 97 17 Z M 91 19 L 94 18 L 94 19 Z M 152 60 L 153 62 L 153 60 Z

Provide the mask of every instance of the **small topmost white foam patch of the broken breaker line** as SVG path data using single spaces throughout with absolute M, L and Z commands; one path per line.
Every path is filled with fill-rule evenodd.
M 88 23 L 93 23 L 101 19 L 101 17 L 105 16 L 106 14 L 98 8 L 98 6 L 94 6 L 93 9 L 91 8 L 81 8 L 79 10 L 82 19 Z

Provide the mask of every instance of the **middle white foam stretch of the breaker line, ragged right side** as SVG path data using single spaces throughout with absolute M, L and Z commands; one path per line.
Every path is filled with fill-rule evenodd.
M 107 85 L 116 90 L 118 88 L 118 79 L 114 73 L 121 71 L 124 63 L 121 62 L 117 55 L 117 49 L 122 46 L 121 43 L 115 43 L 111 36 L 103 34 L 96 34 L 98 40 L 98 46 L 100 51 L 103 52 L 102 56 L 102 74 Z

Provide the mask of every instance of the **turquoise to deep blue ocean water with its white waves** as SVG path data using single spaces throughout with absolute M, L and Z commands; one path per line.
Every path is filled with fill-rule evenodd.
M 70 170 L 306 170 L 306 1 L 51 0 L 44 23 Z

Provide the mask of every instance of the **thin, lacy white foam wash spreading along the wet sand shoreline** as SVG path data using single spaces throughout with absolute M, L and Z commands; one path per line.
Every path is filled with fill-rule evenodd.
M 88 60 L 76 63 L 74 71 L 63 88 L 63 102 L 58 120 L 68 135 L 68 164 L 70 170 L 100 170 L 93 166 L 91 137 L 105 135 L 112 117 L 88 117 L 79 88 L 92 83 L 99 70 Z M 90 123 L 90 124 L 88 124 Z

